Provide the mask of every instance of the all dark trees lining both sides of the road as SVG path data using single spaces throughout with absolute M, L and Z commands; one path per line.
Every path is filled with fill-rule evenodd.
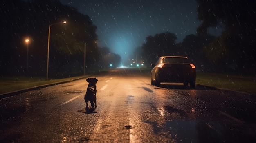
M 187 35 L 176 43 L 174 33 L 146 37 L 134 55 L 154 64 L 164 55 L 187 56 L 198 69 L 210 72 L 255 74 L 256 13 L 255 0 L 197 0 L 198 20 L 202 23 L 196 35 Z M 109 48 L 99 48 L 95 26 L 88 15 L 59 0 L 2 0 L 0 10 L 0 70 L 2 75 L 43 75 L 46 70 L 48 27 L 51 26 L 49 75 L 83 73 L 86 43 L 86 66 L 118 66 L 121 57 Z M 211 27 L 221 27 L 218 37 L 209 35 Z M 29 38 L 29 72 L 26 70 L 25 39 Z M 138 55 L 137 51 L 141 51 Z

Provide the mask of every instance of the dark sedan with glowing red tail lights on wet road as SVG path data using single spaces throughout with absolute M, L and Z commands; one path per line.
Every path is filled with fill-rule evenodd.
M 175 82 L 195 88 L 195 65 L 187 57 L 162 56 L 151 66 L 154 67 L 151 70 L 152 85 L 160 86 L 161 82 Z

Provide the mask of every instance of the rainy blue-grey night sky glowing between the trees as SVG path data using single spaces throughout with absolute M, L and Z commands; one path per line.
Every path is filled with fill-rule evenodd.
M 196 34 L 198 4 L 195 0 L 60 0 L 89 15 L 97 26 L 98 46 L 130 58 L 146 40 L 164 32 L 175 33 L 177 43 Z

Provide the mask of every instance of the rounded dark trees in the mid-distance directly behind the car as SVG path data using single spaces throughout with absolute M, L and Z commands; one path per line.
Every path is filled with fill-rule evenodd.
M 211 62 L 207 59 L 203 48 L 208 45 L 215 37 L 187 35 L 181 43 L 175 43 L 177 39 L 173 33 L 161 33 L 154 37 L 148 36 L 143 49 L 142 59 L 148 66 L 155 64 L 160 56 L 176 55 L 186 56 L 197 66 L 198 70 L 213 70 Z

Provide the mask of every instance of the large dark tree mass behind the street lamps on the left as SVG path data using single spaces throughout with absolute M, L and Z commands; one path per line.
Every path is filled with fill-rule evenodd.
M 58 0 L 3 0 L 0 26 L 1 74 L 26 75 L 25 63 L 29 38 L 29 73 L 42 75 L 46 72 L 48 27 L 50 33 L 49 75 L 58 71 L 81 72 L 84 44 L 86 62 L 99 59 L 96 29 L 88 15 L 76 8 L 64 6 Z M 66 24 L 55 24 L 67 21 Z M 92 64 L 88 64 L 93 66 Z

